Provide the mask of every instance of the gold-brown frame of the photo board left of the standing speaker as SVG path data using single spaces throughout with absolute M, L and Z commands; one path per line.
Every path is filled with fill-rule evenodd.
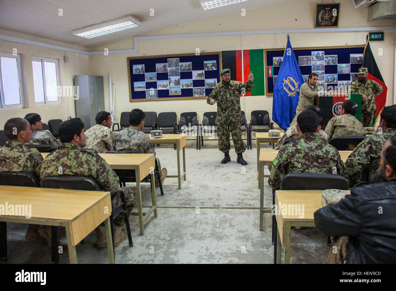
M 208 96 L 187 96 L 187 97 L 165 97 L 165 98 L 139 98 L 139 99 L 132 99 L 132 84 L 131 84 L 131 67 L 129 66 L 129 60 L 131 59 L 149 59 L 149 58 L 159 58 L 159 57 L 184 57 L 184 56 L 194 56 L 195 53 L 177 53 L 172 55 L 143 55 L 140 57 L 127 57 L 127 68 L 128 68 L 128 89 L 129 89 L 129 102 L 133 101 L 160 101 L 160 100 L 181 100 L 181 99 L 207 99 Z M 219 66 L 218 70 L 219 73 L 223 70 L 223 65 L 221 62 L 221 51 L 212 51 L 212 52 L 202 52 L 200 55 L 219 55 Z

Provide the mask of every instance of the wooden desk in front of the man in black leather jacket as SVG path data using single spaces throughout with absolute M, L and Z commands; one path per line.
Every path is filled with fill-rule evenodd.
M 349 194 L 349 190 L 345 190 L 346 194 Z M 276 242 L 274 243 L 274 256 L 276 257 L 276 263 L 281 263 L 281 245 L 284 245 L 284 263 L 290 263 L 290 230 L 291 226 L 308 226 L 315 227 L 314 212 L 322 208 L 322 190 L 276 190 L 275 191 L 275 205 L 276 209 L 279 206 L 282 209 L 282 205 L 301 205 L 301 216 L 295 213 L 290 207 L 290 213 L 282 214 L 282 211 L 277 211 L 275 214 L 277 227 L 275 227 Z M 302 206 L 304 205 L 304 211 Z M 287 211 L 289 212 L 289 211 Z M 294 213 L 293 213 L 294 212 Z M 291 215 L 294 214 L 294 215 Z M 275 245 L 276 244 L 276 245 Z

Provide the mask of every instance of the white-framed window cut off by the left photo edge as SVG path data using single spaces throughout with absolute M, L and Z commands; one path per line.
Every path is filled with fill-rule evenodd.
M 0 51 L 0 108 L 22 107 L 21 56 Z

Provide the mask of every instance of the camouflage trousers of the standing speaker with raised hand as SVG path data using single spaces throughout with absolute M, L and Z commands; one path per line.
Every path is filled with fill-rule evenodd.
M 230 150 L 230 131 L 232 142 L 235 146 L 235 152 L 242 153 L 246 150 L 246 144 L 242 141 L 242 130 L 240 122 L 218 122 L 217 137 L 219 138 L 219 150 L 228 152 Z

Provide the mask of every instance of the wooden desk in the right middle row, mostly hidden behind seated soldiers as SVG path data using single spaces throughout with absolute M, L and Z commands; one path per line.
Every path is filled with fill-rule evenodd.
M 272 164 L 272 161 L 278 155 L 279 150 L 261 150 L 260 151 L 260 171 L 259 171 L 259 188 L 260 188 L 260 223 L 259 229 L 263 230 L 263 213 L 270 213 L 270 209 L 264 210 L 264 177 L 269 177 L 269 175 L 264 175 L 264 166 Z M 348 156 L 352 153 L 352 150 L 339 150 L 341 160 L 346 162 Z

